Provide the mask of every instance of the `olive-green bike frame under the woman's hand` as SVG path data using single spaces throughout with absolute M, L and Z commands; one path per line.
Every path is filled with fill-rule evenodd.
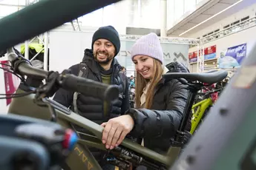
M 18 89 L 16 93 L 22 93 L 22 92 L 23 91 L 21 89 Z M 35 95 L 33 94 L 33 95 L 24 96 L 22 98 L 13 98 L 13 101 L 10 103 L 8 113 L 12 113 L 16 115 L 24 115 L 32 118 L 43 119 L 43 120 L 50 120 L 49 109 L 45 106 L 38 106 L 36 103 L 34 103 L 33 102 L 34 96 Z M 102 130 L 103 130 L 102 126 L 99 126 L 98 124 L 93 123 L 91 120 L 83 118 L 82 116 L 77 115 L 74 112 L 70 112 L 70 115 L 68 115 L 65 112 L 61 112 L 59 109 L 56 109 L 56 113 L 58 117 L 57 123 L 61 124 L 62 126 L 72 128 L 73 126 L 70 126 L 70 123 L 73 123 L 78 126 L 81 126 L 82 128 L 88 129 L 90 132 L 93 133 L 93 135 L 96 136 L 96 137 L 92 137 L 89 135 L 83 135 L 82 133 L 78 133 L 78 135 L 81 137 L 81 140 L 79 140 L 77 147 L 75 147 L 75 150 L 70 154 L 70 157 L 74 157 L 74 155 L 76 155 L 76 158 L 78 158 L 77 155 L 79 155 L 80 160 L 85 160 L 83 162 L 85 162 L 84 164 L 86 164 L 86 166 L 89 165 L 90 167 L 93 167 L 91 169 L 99 170 L 100 169 L 99 164 L 93 158 L 87 146 L 93 146 L 98 149 L 104 149 L 105 146 L 101 143 Z M 141 154 L 144 157 L 148 157 L 151 160 L 155 160 L 167 166 L 171 166 L 171 163 L 173 163 L 174 160 L 176 160 L 177 158 L 177 152 L 168 152 L 168 155 L 165 156 L 162 154 L 158 154 L 157 152 L 154 152 L 150 149 L 147 149 L 144 146 L 141 146 L 138 143 L 134 143 L 128 139 L 123 140 L 121 145 L 125 146 L 128 149 L 131 149 L 132 151 L 135 151 Z M 71 160 L 73 160 L 73 158 L 70 158 L 70 162 L 72 162 Z M 79 164 L 79 163 L 76 163 L 76 164 Z M 79 169 L 82 169 L 82 167 L 79 166 L 79 168 L 77 167 L 73 168 L 72 166 L 71 169 L 79 170 Z

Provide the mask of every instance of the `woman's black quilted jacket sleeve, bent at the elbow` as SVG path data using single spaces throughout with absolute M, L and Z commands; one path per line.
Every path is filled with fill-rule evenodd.
M 188 89 L 186 85 L 176 79 L 169 81 L 167 86 L 168 88 L 165 89 L 168 99 L 163 103 L 165 109 L 129 109 L 128 115 L 134 119 L 134 129 L 131 131 L 131 135 L 135 137 L 174 136 L 183 117 Z

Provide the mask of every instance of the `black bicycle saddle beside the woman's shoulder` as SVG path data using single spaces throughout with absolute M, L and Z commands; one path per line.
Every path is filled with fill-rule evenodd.
M 206 84 L 215 84 L 222 81 L 227 75 L 228 72 L 226 70 L 220 69 L 200 73 L 170 72 L 163 75 L 163 78 L 166 80 L 170 80 L 172 78 L 184 78 L 187 81 L 200 81 Z

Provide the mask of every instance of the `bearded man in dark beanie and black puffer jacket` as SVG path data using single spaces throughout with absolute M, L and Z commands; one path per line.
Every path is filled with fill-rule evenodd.
M 124 114 L 129 109 L 129 85 L 127 78 L 120 72 L 121 66 L 114 58 L 120 49 L 119 34 L 114 27 L 100 27 L 93 34 L 91 48 L 91 50 L 85 50 L 81 64 L 70 67 L 70 72 L 93 81 L 117 85 L 119 88 L 119 99 L 109 104 L 103 103 L 97 98 L 59 89 L 53 100 L 66 107 L 70 107 L 70 109 L 83 117 L 101 124 L 110 118 Z M 107 114 L 103 114 L 103 111 Z M 76 127 L 76 130 L 88 133 L 85 129 L 79 127 Z M 96 149 L 90 150 L 102 168 L 105 169 L 104 166 L 107 163 L 102 160 L 104 154 Z

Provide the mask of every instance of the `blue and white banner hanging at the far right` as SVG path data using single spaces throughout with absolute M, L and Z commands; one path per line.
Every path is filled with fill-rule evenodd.
M 220 69 L 229 69 L 240 67 L 243 58 L 246 57 L 246 44 L 240 44 L 234 47 L 229 47 L 227 50 L 220 53 L 218 64 Z

